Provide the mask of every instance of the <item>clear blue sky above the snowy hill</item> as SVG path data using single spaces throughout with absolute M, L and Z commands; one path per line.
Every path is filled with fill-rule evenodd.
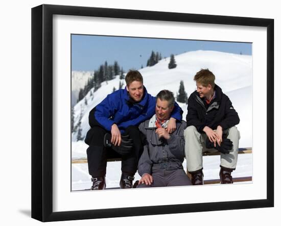
M 96 35 L 72 35 L 72 70 L 96 70 L 107 61 L 118 61 L 124 71 L 146 67 L 151 52 L 164 57 L 189 51 L 212 50 L 235 54 L 252 54 L 251 43 L 156 39 Z

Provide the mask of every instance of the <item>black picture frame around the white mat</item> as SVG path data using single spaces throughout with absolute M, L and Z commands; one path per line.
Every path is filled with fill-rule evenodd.
M 265 27 L 267 29 L 267 198 L 234 202 L 82 211 L 53 211 L 53 15 L 146 19 Z M 32 218 L 78 220 L 274 206 L 274 20 L 77 6 L 32 8 Z

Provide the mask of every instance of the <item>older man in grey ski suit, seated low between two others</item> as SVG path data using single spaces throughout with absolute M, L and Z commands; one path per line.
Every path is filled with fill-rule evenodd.
M 138 162 L 138 173 L 142 178 L 137 188 L 191 185 L 182 167 L 186 122 L 177 121 L 176 131 L 167 132 L 174 103 L 171 91 L 160 91 L 156 96 L 155 115 L 139 125 L 146 140 Z

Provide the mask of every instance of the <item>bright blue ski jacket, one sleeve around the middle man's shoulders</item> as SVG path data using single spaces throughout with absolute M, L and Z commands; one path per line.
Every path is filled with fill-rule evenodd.
M 119 89 L 108 94 L 106 98 L 96 106 L 95 118 L 106 129 L 111 131 L 113 123 L 118 125 L 121 133 L 130 125 L 138 126 L 141 122 L 150 119 L 155 114 L 156 98 L 151 96 L 144 87 L 142 101 L 135 103 L 125 89 Z M 175 103 L 171 117 L 181 121 L 182 110 Z

